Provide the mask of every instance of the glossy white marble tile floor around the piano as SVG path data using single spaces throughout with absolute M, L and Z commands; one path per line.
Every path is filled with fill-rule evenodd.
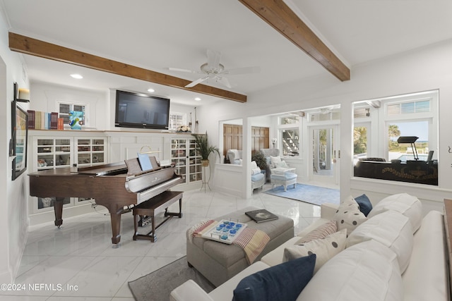
M 20 262 L 14 291 L 0 291 L 0 300 L 11 301 L 133 301 L 128 282 L 185 256 L 185 232 L 198 221 L 215 218 L 248 206 L 266 208 L 294 220 L 295 233 L 318 219 L 320 207 L 254 190 L 250 199 L 220 192 L 184 192 L 182 219 L 174 217 L 157 229 L 157 241 L 132 240 L 133 216 L 123 214 L 121 242 L 111 243 L 108 211 L 33 226 Z M 177 211 L 173 204 L 170 211 Z M 162 216 L 160 216 L 162 219 Z M 148 227 L 138 229 L 147 233 Z M 19 290 L 20 289 L 20 290 Z

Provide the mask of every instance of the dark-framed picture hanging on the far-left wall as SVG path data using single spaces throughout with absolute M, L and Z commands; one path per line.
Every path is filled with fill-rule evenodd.
M 16 101 L 11 102 L 11 142 L 12 142 L 12 180 L 15 180 L 27 169 L 28 146 L 28 113 L 18 106 Z

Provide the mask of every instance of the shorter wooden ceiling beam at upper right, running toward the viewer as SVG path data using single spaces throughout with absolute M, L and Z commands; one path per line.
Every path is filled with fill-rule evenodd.
M 321 63 L 341 81 L 350 80 L 350 69 L 284 3 L 283 0 L 239 0 L 297 47 Z

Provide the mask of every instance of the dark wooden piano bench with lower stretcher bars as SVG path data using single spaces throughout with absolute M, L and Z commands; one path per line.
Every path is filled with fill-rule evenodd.
M 177 200 L 179 200 L 179 213 L 168 212 L 168 207 L 174 202 L 177 202 Z M 179 218 L 182 217 L 182 192 L 167 190 L 160 193 L 160 195 L 156 195 L 155 197 L 138 204 L 133 207 L 132 211 L 133 226 L 135 228 L 133 240 L 150 240 L 151 242 L 155 242 L 155 240 L 157 240 L 157 236 L 155 235 L 155 230 L 157 230 L 157 228 L 162 226 L 163 223 L 171 219 L 173 216 L 177 216 Z M 163 211 L 165 211 L 164 215 L 166 219 L 155 226 L 155 215 Z M 150 216 L 152 230 L 149 233 L 138 234 L 138 216 Z

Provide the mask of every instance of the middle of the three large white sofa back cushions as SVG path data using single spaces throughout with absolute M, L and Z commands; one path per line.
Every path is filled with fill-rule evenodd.
M 366 240 L 376 240 L 397 254 L 400 271 L 407 268 L 412 252 L 412 228 L 408 217 L 386 211 L 359 225 L 347 238 L 347 247 Z

